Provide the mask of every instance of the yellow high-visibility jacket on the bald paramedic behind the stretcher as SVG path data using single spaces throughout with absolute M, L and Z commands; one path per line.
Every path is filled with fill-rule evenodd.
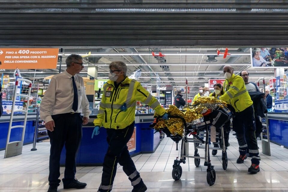
M 223 83 L 224 94 L 219 99 L 232 105 L 236 112 L 241 112 L 253 104 L 241 76 L 233 74 Z

